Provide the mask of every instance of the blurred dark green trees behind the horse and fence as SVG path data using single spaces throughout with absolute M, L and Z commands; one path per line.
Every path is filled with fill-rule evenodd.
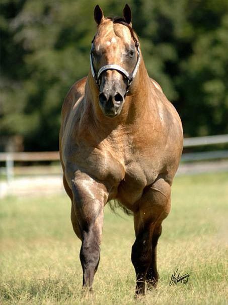
M 69 87 L 89 71 L 93 10 L 75 1 L 0 4 L 0 132 L 20 134 L 26 150 L 57 150 Z M 148 73 L 174 103 L 188 136 L 228 132 L 228 2 L 128 1 Z M 100 0 L 106 16 L 122 1 Z

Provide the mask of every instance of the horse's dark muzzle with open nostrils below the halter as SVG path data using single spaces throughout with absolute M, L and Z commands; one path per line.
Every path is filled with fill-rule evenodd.
M 120 93 L 108 96 L 105 93 L 99 94 L 99 104 L 105 116 L 114 117 L 120 114 L 124 103 L 124 97 Z

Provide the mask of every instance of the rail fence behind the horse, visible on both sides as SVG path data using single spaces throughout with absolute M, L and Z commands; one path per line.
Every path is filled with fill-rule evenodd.
M 197 147 L 205 145 L 227 144 L 228 135 L 208 136 L 208 137 L 196 137 L 185 138 L 184 148 Z M 194 152 L 184 153 L 182 155 L 182 161 L 203 161 L 214 159 L 227 159 L 228 150 L 209 151 L 209 152 Z M 59 152 L 16 152 L 16 153 L 0 153 L 0 162 L 6 162 L 6 174 L 8 182 L 14 178 L 14 162 L 35 162 L 35 161 L 58 161 Z

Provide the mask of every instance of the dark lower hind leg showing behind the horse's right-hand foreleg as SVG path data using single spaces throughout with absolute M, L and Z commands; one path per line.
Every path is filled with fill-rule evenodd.
M 158 239 L 161 234 L 162 234 L 162 225 L 160 224 L 159 226 L 155 227 L 152 237 L 151 261 L 146 273 L 146 282 L 147 282 L 147 287 L 149 289 L 156 288 L 159 280 L 159 273 L 157 270 L 157 245 L 158 245 Z

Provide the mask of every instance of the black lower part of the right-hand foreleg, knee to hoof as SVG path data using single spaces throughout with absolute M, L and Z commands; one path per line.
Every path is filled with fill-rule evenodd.
M 136 236 L 131 252 L 131 261 L 136 273 L 136 295 L 145 293 L 146 271 L 150 260 L 151 245 L 149 242 L 149 230 L 146 228 Z

